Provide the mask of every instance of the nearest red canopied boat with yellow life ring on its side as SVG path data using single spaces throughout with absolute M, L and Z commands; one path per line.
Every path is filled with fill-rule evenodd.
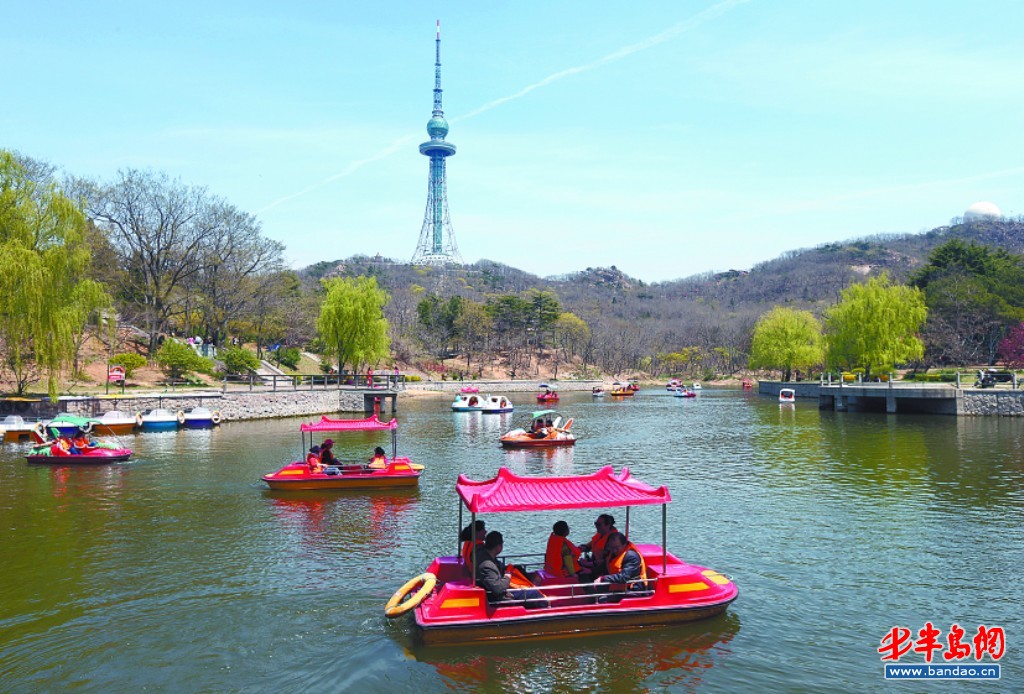
M 634 543 L 647 567 L 646 590 L 610 593 L 617 602 L 597 602 L 589 584 L 554 576 L 543 568 L 535 585 L 547 605 L 525 607 L 524 600 L 488 603 L 485 591 L 475 584 L 461 556 L 437 557 L 427 572 L 399 589 L 386 614 L 412 611 L 418 637 L 427 644 L 499 641 L 507 639 L 578 636 L 664 626 L 721 614 L 736 599 L 735 583 L 714 569 L 690 564 L 666 549 L 666 505 L 672 501 L 665 486 L 652 487 L 631 476 L 628 468 L 615 474 L 604 467 L 592 475 L 522 477 L 502 468 L 487 481 L 460 475 L 456 484 L 462 507 L 471 513 L 470 527 L 480 513 L 562 511 L 662 505 L 662 545 Z M 475 544 L 475 537 L 473 538 Z M 474 559 L 475 561 L 475 559 Z M 544 558 L 540 558 L 543 566 Z M 529 564 L 516 563 L 529 569 Z M 401 603 L 418 584 L 413 600 Z M 429 590 L 425 590 L 429 587 Z M 603 597 L 603 595 L 601 596 Z M 417 602 L 415 605 L 409 603 Z

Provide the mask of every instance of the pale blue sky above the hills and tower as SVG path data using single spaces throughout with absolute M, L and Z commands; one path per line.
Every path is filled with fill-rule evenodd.
M 381 5 L 377 7 L 376 5 Z M 435 21 L 463 259 L 646 281 L 1024 214 L 1024 3 L 0 0 L 0 148 L 409 261 Z

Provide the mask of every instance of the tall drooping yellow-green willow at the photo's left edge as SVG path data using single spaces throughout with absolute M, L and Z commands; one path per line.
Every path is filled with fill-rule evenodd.
M 56 399 L 76 333 L 110 305 L 102 286 L 84 278 L 85 231 L 85 215 L 52 179 L 33 176 L 26 161 L 0 150 L 0 341 L 18 394 L 38 368 Z

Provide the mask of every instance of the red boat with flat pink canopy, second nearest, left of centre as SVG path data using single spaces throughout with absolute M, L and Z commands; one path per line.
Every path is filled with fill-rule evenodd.
M 271 489 L 308 491 L 311 489 L 366 489 L 374 487 L 415 486 L 420 482 L 423 466 L 408 458 L 397 457 L 398 421 L 381 422 L 376 415 L 365 420 L 335 420 L 322 417 L 319 422 L 310 422 L 299 427 L 302 433 L 302 450 L 307 449 L 318 433 L 352 431 L 390 431 L 391 458 L 385 459 L 381 467 L 373 467 L 360 462 L 342 462 L 329 466 L 324 472 L 310 472 L 304 461 L 286 465 L 275 473 L 263 475 L 261 479 Z

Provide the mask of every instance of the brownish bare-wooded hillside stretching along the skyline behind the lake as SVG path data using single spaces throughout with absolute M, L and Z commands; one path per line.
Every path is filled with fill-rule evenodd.
M 651 374 L 680 370 L 732 373 L 745 365 L 754 323 L 773 306 L 802 308 L 820 315 L 825 307 L 839 301 L 840 293 L 850 285 L 883 272 L 896 281 L 906 281 L 928 261 L 932 251 L 952 238 L 1024 253 L 1021 219 L 954 222 L 926 233 L 879 235 L 796 250 L 750 270 L 657 284 L 632 278 L 614 266 L 538 277 L 493 261 L 439 269 L 360 256 L 317 263 L 301 274 L 310 284 L 333 275 L 376 276 L 391 295 L 386 312 L 395 349 L 402 356 L 413 355 L 416 342 L 433 345 L 436 356 L 442 358 L 467 348 L 454 317 L 446 335 L 443 330 L 436 334 L 436 316 L 427 320 L 432 326 L 425 324 L 419 308 L 425 298 L 443 303 L 458 297 L 486 306 L 511 295 L 548 296 L 557 302 L 559 311 L 571 313 L 586 323 L 589 335 L 572 350 L 572 356 L 585 363 L 615 374 L 633 370 Z M 457 310 L 455 305 L 452 310 Z M 520 373 L 529 368 L 526 345 L 536 340 L 530 340 L 528 332 L 537 328 L 531 326 L 529 317 L 524 317 L 520 327 L 527 332 L 522 349 L 526 358 L 511 359 L 510 373 L 517 367 Z M 513 321 L 505 328 L 512 331 L 516 324 Z M 493 327 L 484 331 L 485 335 L 477 336 L 481 344 L 475 348 L 504 351 L 507 359 L 511 342 L 501 340 L 496 332 L 500 333 L 501 328 Z M 501 349 L 495 338 L 503 345 Z M 558 342 L 556 330 L 552 330 L 547 342 Z

